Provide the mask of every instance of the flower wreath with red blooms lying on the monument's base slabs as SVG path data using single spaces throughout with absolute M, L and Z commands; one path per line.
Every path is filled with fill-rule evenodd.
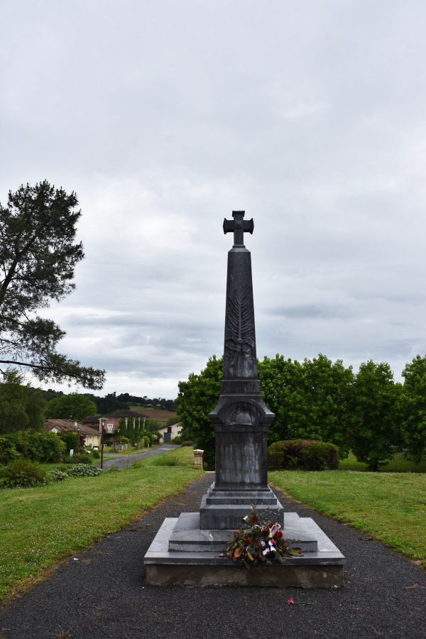
M 284 539 L 280 524 L 260 518 L 252 503 L 251 513 L 243 518 L 238 530 L 234 530 L 227 553 L 229 559 L 240 560 L 246 568 L 256 564 L 282 564 L 283 557 L 302 555 L 300 548 L 289 547 L 290 541 Z

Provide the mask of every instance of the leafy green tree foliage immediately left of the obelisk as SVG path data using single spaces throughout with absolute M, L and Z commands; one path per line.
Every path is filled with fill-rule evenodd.
M 193 439 L 204 450 L 204 463 L 214 467 L 214 428 L 207 415 L 212 412 L 220 395 L 223 359 L 209 357 L 199 375 L 190 373 L 187 381 L 178 383 L 176 410 L 182 425 L 182 440 Z

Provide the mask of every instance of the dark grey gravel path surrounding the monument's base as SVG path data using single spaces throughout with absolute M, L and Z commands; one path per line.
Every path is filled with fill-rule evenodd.
M 205 474 L 78 560 L 70 557 L 1 609 L 0 639 L 426 637 L 425 572 L 280 493 L 285 510 L 312 517 L 346 556 L 343 589 L 146 586 L 143 555 L 163 519 L 198 510 L 212 480 Z M 297 605 L 289 606 L 289 597 Z

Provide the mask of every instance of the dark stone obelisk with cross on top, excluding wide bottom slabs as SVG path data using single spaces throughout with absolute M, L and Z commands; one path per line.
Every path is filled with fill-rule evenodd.
M 237 528 L 251 503 L 273 510 L 283 523 L 283 508 L 268 487 L 268 426 L 275 415 L 261 395 L 256 363 L 251 253 L 244 233 L 253 233 L 253 219 L 244 211 L 224 220 L 224 233 L 234 232 L 228 253 L 224 378 L 219 401 L 209 414 L 216 439 L 216 481 L 200 508 L 202 529 Z

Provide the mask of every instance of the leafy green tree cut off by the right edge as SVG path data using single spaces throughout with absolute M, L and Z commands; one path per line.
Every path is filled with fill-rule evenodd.
M 426 459 L 426 355 L 417 355 L 402 373 L 400 429 L 407 457 L 416 463 Z

